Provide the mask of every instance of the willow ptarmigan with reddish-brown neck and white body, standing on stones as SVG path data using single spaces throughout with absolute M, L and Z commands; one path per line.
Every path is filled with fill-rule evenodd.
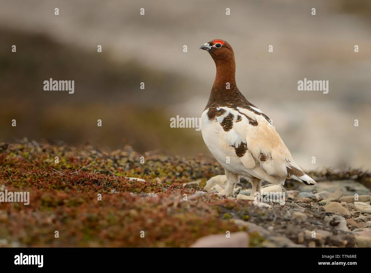
M 260 192 L 262 180 L 283 185 L 286 178 L 293 178 L 315 184 L 296 165 L 269 117 L 238 90 L 229 43 L 211 40 L 200 49 L 209 52 L 216 65 L 209 102 L 201 116 L 201 132 L 226 172 L 227 186 L 219 195 L 233 196 L 240 177 L 252 183 L 252 194 Z

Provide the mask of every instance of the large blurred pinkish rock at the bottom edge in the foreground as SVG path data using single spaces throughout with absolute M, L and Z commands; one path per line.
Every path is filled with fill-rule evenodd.
M 231 233 L 227 238 L 226 234 L 213 234 L 202 237 L 190 247 L 248 247 L 249 236 L 246 232 L 239 231 Z

